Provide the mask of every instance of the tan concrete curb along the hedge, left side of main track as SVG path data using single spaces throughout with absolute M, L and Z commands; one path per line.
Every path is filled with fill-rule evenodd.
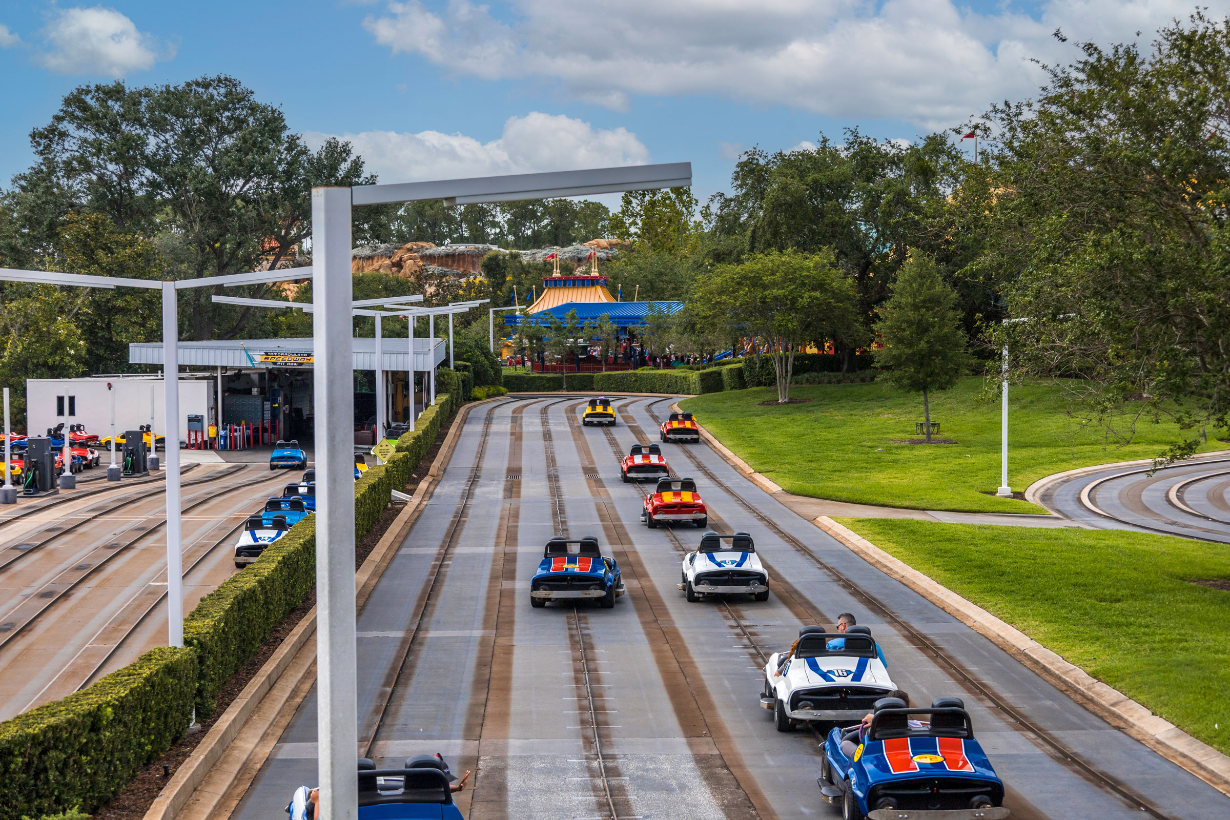
M 498 397 L 503 398 L 503 397 Z M 435 488 L 435 483 L 439 481 L 443 473 L 444 465 L 448 463 L 453 455 L 453 450 L 456 447 L 458 438 L 460 436 L 460 430 L 465 425 L 465 419 L 469 417 L 470 411 L 480 404 L 486 404 L 488 402 L 498 401 L 497 397 L 490 398 L 485 402 L 474 402 L 465 404 L 459 412 L 456 418 L 453 420 L 451 429 L 440 446 L 439 452 L 435 455 L 435 461 L 432 462 L 432 467 L 423 481 L 415 489 L 415 494 L 411 500 L 406 503 L 406 507 L 397 514 L 392 525 L 380 538 L 380 542 L 371 551 L 371 553 L 359 567 L 358 573 L 355 573 L 354 583 L 355 590 L 355 604 L 362 607 L 371 590 L 375 588 L 376 581 L 380 579 L 380 574 L 384 573 L 385 567 L 396 554 L 395 545 L 400 545 L 405 538 L 406 531 L 413 526 L 413 522 L 418 519 L 426 507 L 426 502 L 430 498 L 432 492 Z M 197 745 L 192 755 L 176 770 L 171 781 L 162 787 L 162 792 L 150 805 L 149 810 L 145 813 L 144 820 L 171 820 L 172 818 L 178 818 L 181 813 L 189 805 L 193 804 L 192 814 L 198 818 L 209 816 L 214 808 L 223 802 L 225 795 L 232 790 L 232 788 L 239 784 L 242 779 L 247 779 L 248 784 L 251 778 L 256 776 L 256 772 L 261 766 L 264 765 L 268 754 L 272 751 L 273 745 L 257 744 L 250 750 L 248 755 L 244 756 L 242 761 L 232 761 L 228 767 L 229 771 L 221 772 L 221 777 L 210 777 L 214 768 L 221 761 L 223 756 L 230 750 L 231 744 L 239 736 L 240 731 L 245 734 L 253 734 L 258 731 L 257 739 L 260 739 L 269 725 L 272 725 L 278 714 L 280 714 L 292 698 L 298 695 L 294 702 L 298 702 L 308 693 L 310 687 L 304 686 L 304 681 L 309 672 L 315 674 L 315 663 L 300 663 L 299 677 L 294 681 L 280 681 L 283 674 L 292 666 L 292 664 L 299 658 L 300 653 L 305 649 L 311 649 L 315 653 L 315 638 L 316 636 L 316 609 L 304 616 L 304 620 L 294 628 L 294 631 L 287 636 L 282 645 L 278 647 L 273 655 L 264 663 L 261 670 L 248 681 L 244 691 L 240 692 L 231 704 L 226 708 L 218 722 L 209 729 L 205 738 Z M 310 642 L 309 645 L 309 641 Z M 301 660 L 301 659 L 300 659 Z M 276 685 L 279 682 L 284 684 L 278 687 L 277 697 L 278 702 L 266 702 L 267 696 Z M 251 718 L 253 713 L 260 707 L 263 713 L 264 720 L 253 722 Z M 263 725 L 261 725 L 263 724 Z M 260 760 L 256 760 L 256 755 L 251 754 L 263 749 L 263 755 Z M 210 778 L 213 782 L 209 784 L 208 794 L 200 794 L 199 799 L 197 792 L 205 783 L 205 779 Z M 245 784 L 245 789 L 246 789 Z

